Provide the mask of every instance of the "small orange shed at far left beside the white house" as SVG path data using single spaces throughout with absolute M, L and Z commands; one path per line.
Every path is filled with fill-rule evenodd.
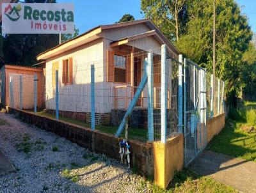
M 37 107 L 44 108 L 44 75 L 42 68 L 4 65 L 0 72 L 0 100 L 4 107 L 20 109 L 20 78 L 22 80 L 22 109 L 34 108 L 34 76 L 37 76 Z M 10 82 L 12 81 L 12 86 Z M 11 88 L 12 87 L 12 88 Z M 12 90 L 12 91 L 10 91 Z

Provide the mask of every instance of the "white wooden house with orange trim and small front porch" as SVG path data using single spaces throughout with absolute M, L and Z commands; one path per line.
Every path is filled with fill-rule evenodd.
M 96 122 L 108 123 L 113 109 L 127 108 L 140 84 L 147 58 L 143 51 L 151 50 L 156 56 L 154 87 L 160 86 L 163 44 L 168 56 L 177 59 L 179 50 L 150 19 L 142 19 L 97 26 L 42 52 L 37 59 L 45 61 L 46 109 L 54 111 L 56 107 L 58 70 L 60 114 L 90 121 L 90 75 L 94 65 Z M 143 100 L 147 92 L 142 95 L 137 104 L 141 109 L 147 107 L 147 100 Z

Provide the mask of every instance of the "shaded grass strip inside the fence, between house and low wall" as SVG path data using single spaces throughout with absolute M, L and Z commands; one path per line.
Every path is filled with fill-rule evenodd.
M 55 118 L 54 114 L 51 114 L 49 112 L 45 112 L 45 111 L 41 111 L 41 112 L 37 112 L 37 114 L 40 114 L 42 116 L 47 116 L 50 118 Z M 72 118 L 67 118 L 64 116 L 60 116 L 59 117 L 61 121 L 66 121 L 68 123 L 73 123 L 76 125 L 80 125 L 83 127 L 88 127 L 91 128 L 90 123 L 85 123 L 84 121 L 79 121 L 79 120 L 74 120 Z M 117 130 L 118 127 L 115 126 L 105 126 L 105 125 L 95 125 L 96 130 L 99 130 L 100 132 L 104 132 L 107 134 L 113 134 L 115 135 L 115 132 Z M 124 137 L 124 132 L 125 130 L 123 130 L 121 137 Z M 147 137 L 147 128 L 129 128 L 128 131 L 128 138 L 129 139 L 136 139 L 138 141 L 141 142 L 146 142 L 148 137 Z

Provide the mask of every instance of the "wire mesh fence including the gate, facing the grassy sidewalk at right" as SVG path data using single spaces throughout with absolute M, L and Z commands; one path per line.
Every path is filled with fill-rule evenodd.
M 214 84 L 215 82 L 215 84 Z M 185 59 L 184 162 L 186 166 L 207 145 L 207 120 L 224 112 L 224 82 Z

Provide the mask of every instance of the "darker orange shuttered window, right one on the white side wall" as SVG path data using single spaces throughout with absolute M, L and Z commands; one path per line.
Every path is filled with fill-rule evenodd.
M 73 59 L 63 59 L 62 60 L 62 83 L 72 84 L 73 79 Z

